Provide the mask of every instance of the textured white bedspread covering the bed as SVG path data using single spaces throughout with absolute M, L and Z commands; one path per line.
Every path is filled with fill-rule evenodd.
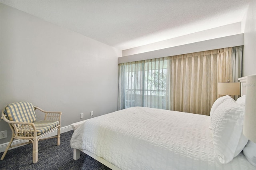
M 132 107 L 89 119 L 74 132 L 71 147 L 122 170 L 256 169 L 242 153 L 220 164 L 209 124 L 209 116 Z

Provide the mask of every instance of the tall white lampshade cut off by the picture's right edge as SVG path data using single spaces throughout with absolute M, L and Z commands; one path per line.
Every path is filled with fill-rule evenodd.
M 243 133 L 246 138 L 256 143 L 256 75 L 247 77 L 245 91 Z

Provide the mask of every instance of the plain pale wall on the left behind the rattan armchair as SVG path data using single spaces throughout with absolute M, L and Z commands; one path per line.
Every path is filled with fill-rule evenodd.
M 117 110 L 121 51 L 1 4 L 0 110 L 29 101 L 62 127 Z M 84 113 L 84 119 L 80 119 Z M 38 113 L 37 113 L 38 114 Z M 8 125 L 1 121 L 0 130 Z

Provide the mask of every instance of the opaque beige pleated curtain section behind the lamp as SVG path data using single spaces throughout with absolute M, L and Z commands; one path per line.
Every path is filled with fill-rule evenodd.
M 168 109 L 209 115 L 218 82 L 232 79 L 232 47 L 170 57 Z

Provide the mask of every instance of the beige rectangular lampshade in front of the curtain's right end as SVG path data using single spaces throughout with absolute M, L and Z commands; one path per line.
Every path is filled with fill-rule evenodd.
M 218 83 L 219 95 L 240 95 L 240 83 Z

